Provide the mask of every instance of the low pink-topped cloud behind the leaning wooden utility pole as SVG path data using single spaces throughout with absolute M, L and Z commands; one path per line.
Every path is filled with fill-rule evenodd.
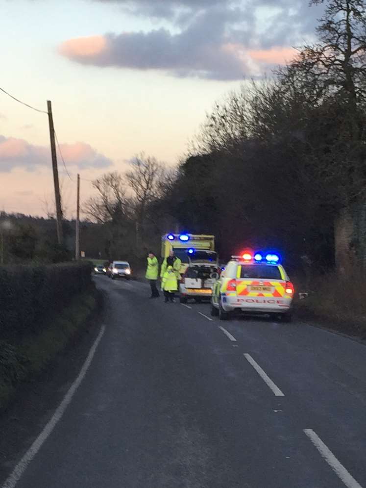
M 112 161 L 97 153 L 89 144 L 60 144 L 62 155 L 69 167 L 79 169 L 106 168 Z M 50 150 L 44 146 L 34 146 L 24 139 L 0 135 L 0 172 L 10 172 L 14 168 L 35 171 L 40 166 L 50 167 Z

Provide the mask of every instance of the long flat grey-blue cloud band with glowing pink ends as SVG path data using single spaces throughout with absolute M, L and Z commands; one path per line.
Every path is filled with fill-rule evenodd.
M 177 77 L 234 80 L 252 76 L 268 65 L 285 64 L 296 51 L 281 47 L 254 51 L 242 43 L 227 43 L 222 39 L 207 43 L 201 40 L 192 45 L 188 35 L 172 35 L 166 29 L 159 29 L 70 39 L 61 44 L 59 52 L 81 64 L 164 70 Z

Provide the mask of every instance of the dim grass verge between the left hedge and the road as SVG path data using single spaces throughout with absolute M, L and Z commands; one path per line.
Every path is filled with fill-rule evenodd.
M 18 344 L 0 341 L 0 411 L 6 408 L 22 382 L 42 372 L 76 334 L 87 329 L 88 318 L 97 302 L 95 290 L 82 293 L 40 334 L 27 335 Z

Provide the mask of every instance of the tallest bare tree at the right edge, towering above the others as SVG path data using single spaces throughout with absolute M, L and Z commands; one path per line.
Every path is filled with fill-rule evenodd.
M 307 95 L 307 164 L 335 207 L 336 261 L 346 272 L 366 261 L 366 227 L 359 218 L 366 189 L 366 2 L 326 4 L 318 43 L 305 46 L 280 80 L 282 93 L 295 86 Z

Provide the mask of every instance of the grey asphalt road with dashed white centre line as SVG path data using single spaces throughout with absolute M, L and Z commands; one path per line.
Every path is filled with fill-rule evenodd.
M 96 283 L 85 376 L 3 487 L 366 488 L 364 345 Z

